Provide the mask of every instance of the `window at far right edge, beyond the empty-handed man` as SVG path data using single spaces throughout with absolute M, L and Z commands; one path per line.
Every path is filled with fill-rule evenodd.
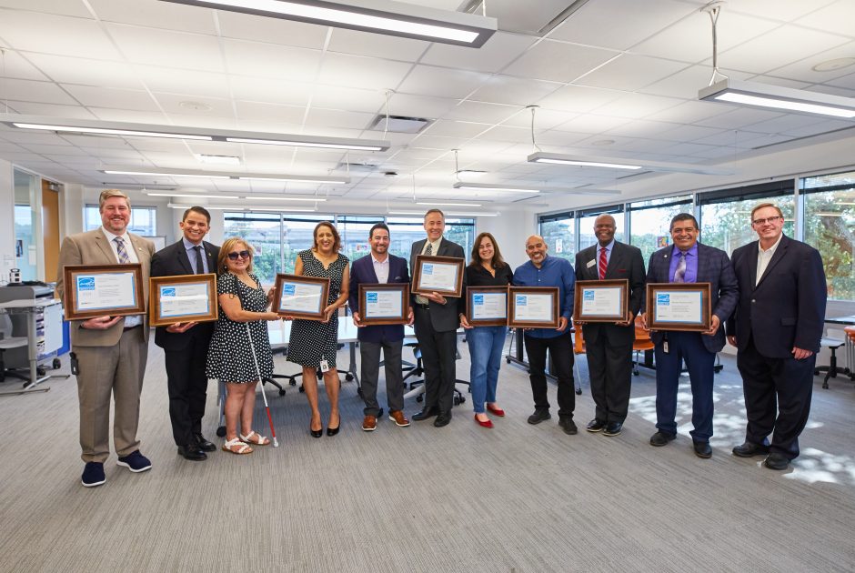
M 806 177 L 800 189 L 804 239 L 820 251 L 829 298 L 855 300 L 855 172 Z

